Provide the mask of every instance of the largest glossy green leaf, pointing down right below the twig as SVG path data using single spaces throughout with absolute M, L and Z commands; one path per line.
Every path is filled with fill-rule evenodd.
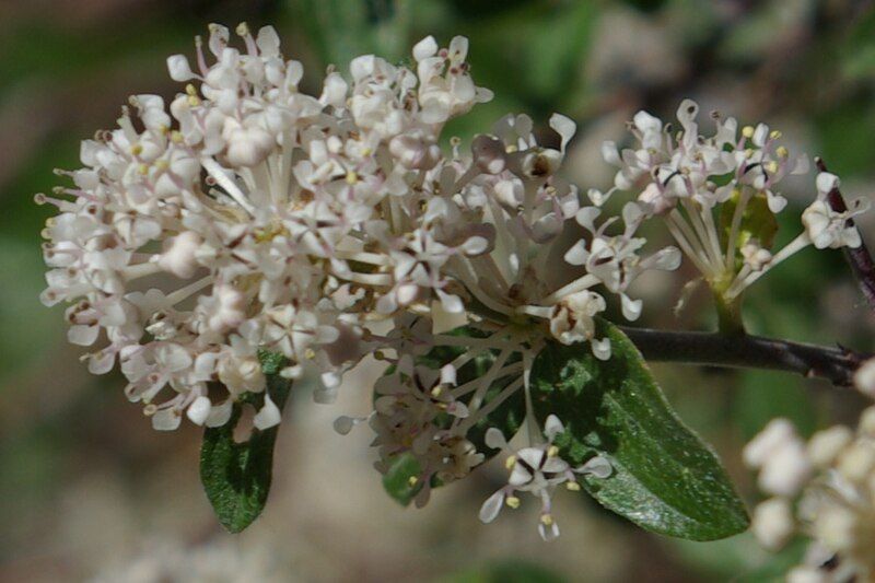
M 677 418 L 629 338 L 604 320 L 598 328 L 610 338 L 610 360 L 587 345 L 551 342 L 532 371 L 536 417 L 561 419 L 556 444 L 565 459 L 602 455 L 614 467 L 606 479 L 584 478 L 584 488 L 654 533 L 713 540 L 745 530 L 744 504 L 714 453 Z

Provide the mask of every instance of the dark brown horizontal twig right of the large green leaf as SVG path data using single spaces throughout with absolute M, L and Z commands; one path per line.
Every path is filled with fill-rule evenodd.
M 621 329 L 651 361 L 785 371 L 825 378 L 837 386 L 851 385 L 856 369 L 872 357 L 840 346 L 804 345 L 759 336 Z

